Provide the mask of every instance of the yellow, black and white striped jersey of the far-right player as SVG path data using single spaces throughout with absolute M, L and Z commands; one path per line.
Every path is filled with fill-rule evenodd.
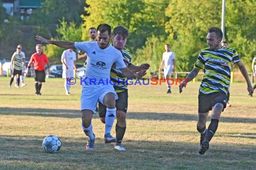
M 209 94 L 219 91 L 227 93 L 230 85 L 231 61 L 238 63 L 240 60 L 233 48 L 202 49 L 194 64 L 194 68 L 204 69 L 199 93 Z

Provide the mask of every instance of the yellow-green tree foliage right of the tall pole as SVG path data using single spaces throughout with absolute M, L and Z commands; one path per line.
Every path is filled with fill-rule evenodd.
M 243 63 L 251 70 L 256 55 L 256 1 L 227 0 L 225 33 L 229 46 L 238 51 Z

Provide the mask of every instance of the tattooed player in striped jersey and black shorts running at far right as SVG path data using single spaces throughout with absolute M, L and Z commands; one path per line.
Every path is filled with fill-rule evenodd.
M 208 48 L 200 51 L 193 70 L 188 74 L 187 82 L 197 76 L 200 69 L 204 70 L 204 76 L 199 88 L 199 109 L 197 130 L 201 133 L 199 154 L 203 155 L 209 148 L 209 142 L 215 134 L 221 111 L 226 107 L 227 92 L 230 86 L 231 61 L 238 65 L 240 72 L 247 82 L 247 90 L 252 95 L 253 88 L 238 53 L 233 48 L 221 46 L 223 33 L 220 28 L 210 27 L 207 34 Z M 182 81 L 182 88 L 186 87 Z M 209 111 L 212 110 L 211 123 L 206 129 L 206 121 Z

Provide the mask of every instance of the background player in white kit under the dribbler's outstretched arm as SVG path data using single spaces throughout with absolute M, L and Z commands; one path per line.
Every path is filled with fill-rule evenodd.
M 73 49 L 68 49 L 63 51 L 62 53 L 62 78 L 65 78 L 64 87 L 66 90 L 66 95 L 70 95 L 69 90 L 71 88 L 71 85 L 69 85 L 66 80 L 69 77 L 74 76 L 74 69 L 76 71 L 76 53 L 73 51 Z

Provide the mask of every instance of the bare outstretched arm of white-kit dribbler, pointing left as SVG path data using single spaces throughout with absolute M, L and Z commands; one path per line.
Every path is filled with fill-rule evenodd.
M 35 39 L 40 41 L 41 43 L 45 44 L 53 44 L 58 47 L 66 48 L 66 49 L 74 49 L 75 48 L 75 42 L 71 41 L 56 41 L 56 40 L 49 40 L 41 37 L 40 35 L 36 35 Z

